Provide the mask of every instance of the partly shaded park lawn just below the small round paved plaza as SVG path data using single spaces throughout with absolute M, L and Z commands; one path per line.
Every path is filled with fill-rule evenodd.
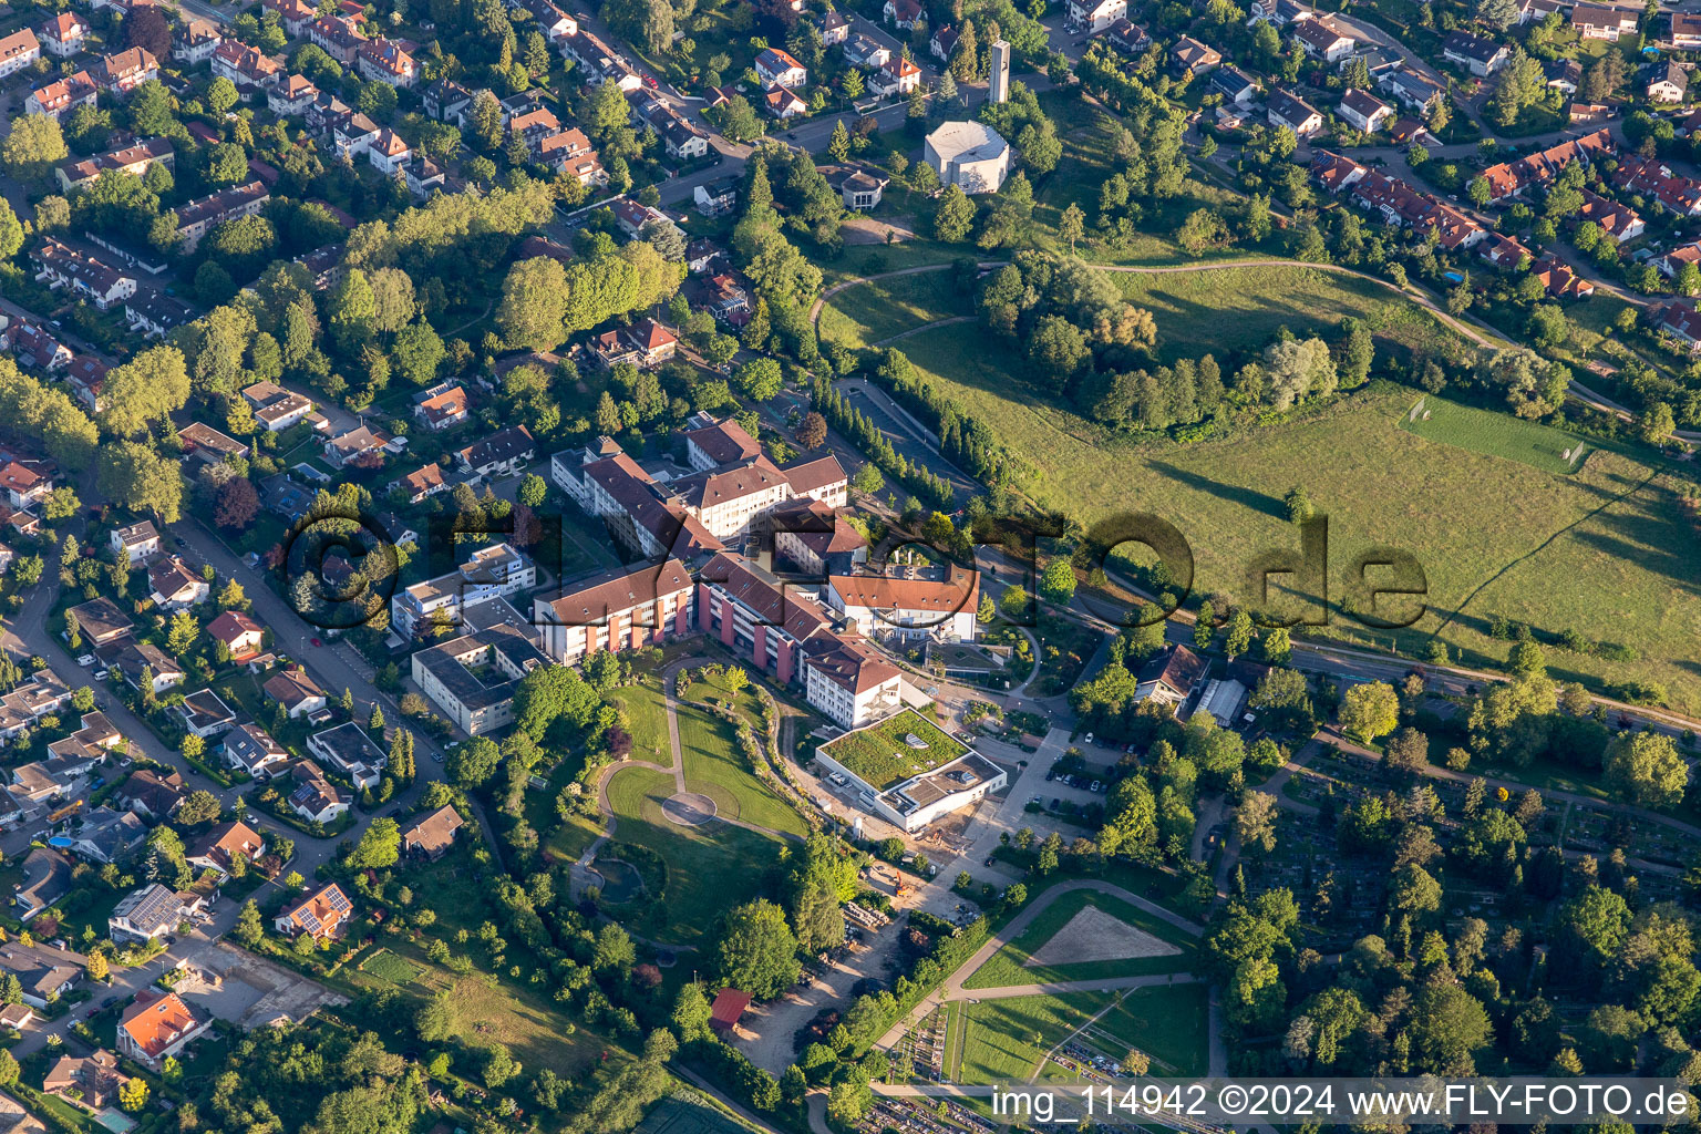
M 774 838 L 730 823 L 684 828 L 662 816 L 674 777 L 650 768 L 621 768 L 609 780 L 616 830 L 609 857 L 623 845 L 650 850 L 665 864 L 665 899 L 646 901 L 623 918 L 646 937 L 689 944 L 725 910 L 762 893 L 762 864 L 774 860 Z

